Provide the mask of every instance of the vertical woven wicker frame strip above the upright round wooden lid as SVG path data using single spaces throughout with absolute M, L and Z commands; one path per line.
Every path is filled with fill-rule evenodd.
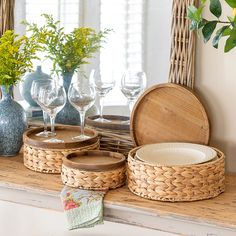
M 187 8 L 197 0 L 173 1 L 169 82 L 194 87 L 195 33 L 189 30 Z

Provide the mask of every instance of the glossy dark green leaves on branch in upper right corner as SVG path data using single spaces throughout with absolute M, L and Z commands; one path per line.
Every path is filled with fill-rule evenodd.
M 202 16 L 207 0 L 201 0 L 199 7 L 189 6 L 188 18 L 191 20 L 190 30 L 201 31 L 205 43 L 211 39 L 215 32 L 212 40 L 213 47 L 218 48 L 220 39 L 226 37 L 224 51 L 229 52 L 236 47 L 236 0 L 224 0 L 223 2 L 233 9 L 232 16 L 228 16 L 227 20 L 220 19 L 222 15 L 220 0 L 210 0 L 209 10 L 214 17 L 213 20 L 205 19 Z

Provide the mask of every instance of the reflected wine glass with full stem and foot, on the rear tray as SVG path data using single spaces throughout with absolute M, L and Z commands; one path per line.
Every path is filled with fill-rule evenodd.
M 93 73 L 93 72 L 92 72 Z M 101 75 L 100 70 L 97 73 L 93 73 L 94 75 L 94 84 L 96 92 L 99 96 L 99 118 L 95 119 L 98 122 L 110 122 L 107 119 L 103 118 L 103 106 L 104 106 L 104 98 L 105 96 L 114 88 L 115 80 L 112 71 L 105 71 L 103 75 Z

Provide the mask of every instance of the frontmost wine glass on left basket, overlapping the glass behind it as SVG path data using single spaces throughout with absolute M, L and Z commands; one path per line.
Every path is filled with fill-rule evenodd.
M 38 101 L 42 109 L 49 115 L 51 133 L 53 136 L 56 136 L 55 118 L 57 113 L 60 112 L 66 104 L 66 92 L 64 87 L 56 81 L 52 81 L 50 84 L 41 86 Z M 45 140 L 45 142 L 60 143 L 64 142 L 64 140 L 51 138 Z

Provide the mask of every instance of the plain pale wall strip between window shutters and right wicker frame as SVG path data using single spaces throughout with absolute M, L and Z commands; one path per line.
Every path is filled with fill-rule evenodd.
M 172 0 L 146 0 L 145 71 L 148 86 L 168 81 Z

